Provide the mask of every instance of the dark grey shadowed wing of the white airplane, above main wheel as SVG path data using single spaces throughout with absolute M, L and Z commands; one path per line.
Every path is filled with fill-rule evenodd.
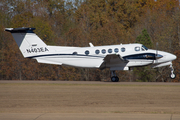
M 123 67 L 129 62 L 128 60 L 124 60 L 119 54 L 106 55 L 106 57 L 103 60 L 104 62 L 99 67 L 100 70 L 117 65 L 122 65 Z

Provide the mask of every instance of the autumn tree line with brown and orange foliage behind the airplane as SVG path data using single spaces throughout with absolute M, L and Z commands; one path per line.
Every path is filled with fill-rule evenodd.
M 12 35 L 4 28 L 35 27 L 48 45 L 95 46 L 143 43 L 177 55 L 173 61 L 180 76 L 180 6 L 178 0 L 1 0 L 1 80 L 108 81 L 105 69 L 39 64 L 24 59 Z M 158 47 L 156 43 L 159 43 Z M 170 68 L 146 66 L 117 71 L 120 81 L 171 81 Z

